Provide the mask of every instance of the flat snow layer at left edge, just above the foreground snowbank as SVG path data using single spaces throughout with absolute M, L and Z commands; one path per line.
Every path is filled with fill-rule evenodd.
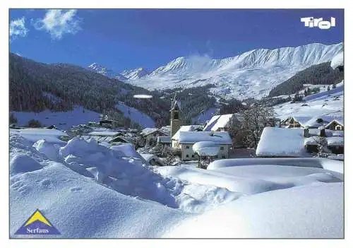
M 65 143 L 65 141 L 61 141 L 61 139 L 59 138 L 62 136 L 67 137 L 64 131 L 57 130 L 57 129 L 41 129 L 41 128 L 10 129 L 10 134 L 18 134 L 20 136 L 23 136 L 28 141 L 32 141 L 32 143 L 35 143 L 40 139 L 45 139 L 45 141 L 51 142 L 51 143 Z

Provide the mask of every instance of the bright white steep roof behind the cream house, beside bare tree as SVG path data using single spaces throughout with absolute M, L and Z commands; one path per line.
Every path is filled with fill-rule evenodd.
M 228 131 L 233 119 L 241 121 L 241 114 L 222 114 L 213 116 L 203 128 L 203 131 Z

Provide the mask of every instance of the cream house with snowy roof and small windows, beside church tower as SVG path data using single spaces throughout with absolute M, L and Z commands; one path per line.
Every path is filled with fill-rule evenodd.
M 197 155 L 193 151 L 193 144 L 199 141 L 213 141 L 220 146 L 217 158 L 228 158 L 229 148 L 232 146 L 232 138 L 226 131 L 178 131 L 172 137 L 172 146 L 181 150 L 181 160 L 196 160 Z M 178 139 L 177 139 L 178 138 Z

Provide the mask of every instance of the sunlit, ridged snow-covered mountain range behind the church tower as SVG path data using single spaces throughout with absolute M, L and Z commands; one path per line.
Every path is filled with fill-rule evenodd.
M 147 89 L 196 87 L 213 83 L 211 91 L 225 97 L 261 98 L 276 85 L 313 64 L 331 61 L 343 43 L 254 49 L 236 57 L 179 57 L 152 73 L 128 81 Z

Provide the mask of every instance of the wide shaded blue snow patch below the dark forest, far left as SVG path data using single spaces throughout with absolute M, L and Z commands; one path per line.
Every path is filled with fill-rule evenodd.
M 100 114 L 83 107 L 73 107 L 72 111 L 52 112 L 44 110 L 43 112 L 12 112 L 18 120 L 18 126 L 26 126 L 31 119 L 37 119 L 44 126 L 55 125 L 59 129 L 68 130 L 71 126 L 88 122 L 99 122 Z

